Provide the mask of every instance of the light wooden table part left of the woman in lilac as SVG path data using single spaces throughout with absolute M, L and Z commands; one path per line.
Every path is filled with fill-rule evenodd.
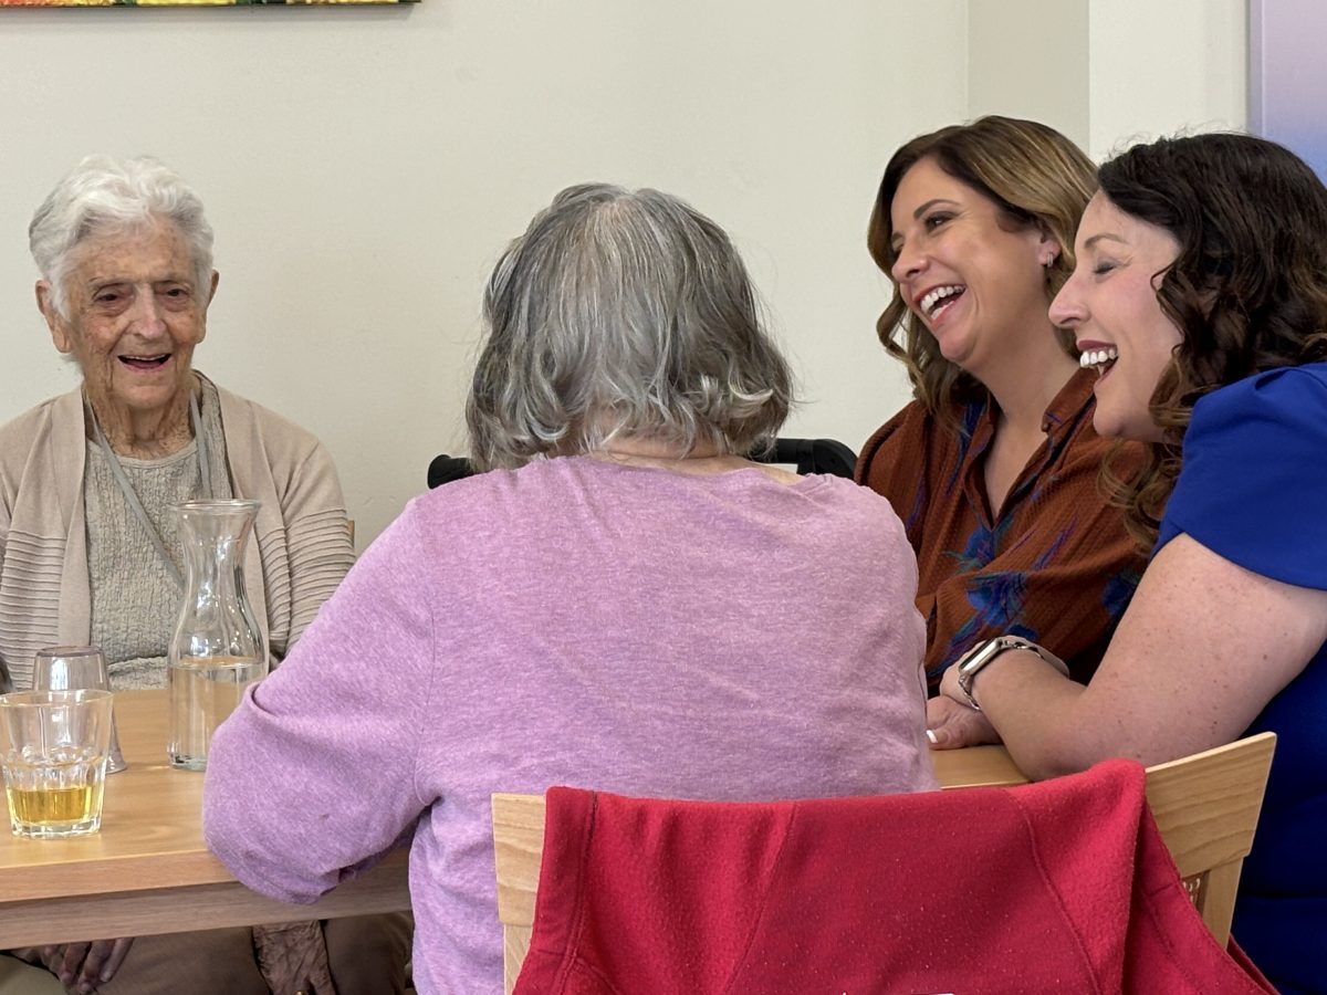
M 249 892 L 203 845 L 203 775 L 166 763 L 166 693 L 117 694 L 115 722 L 129 769 L 106 779 L 100 833 L 24 840 L 0 824 L 0 949 L 410 907 L 405 850 L 316 905 Z

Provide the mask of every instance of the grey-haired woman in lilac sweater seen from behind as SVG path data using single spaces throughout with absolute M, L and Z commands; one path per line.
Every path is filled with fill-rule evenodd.
M 488 472 L 365 551 L 218 731 L 204 788 L 212 850 L 287 901 L 410 840 L 421 995 L 502 991 L 495 791 L 934 785 L 902 525 L 742 455 L 791 377 L 723 231 L 666 194 L 572 187 L 502 256 L 484 318 L 467 417 Z

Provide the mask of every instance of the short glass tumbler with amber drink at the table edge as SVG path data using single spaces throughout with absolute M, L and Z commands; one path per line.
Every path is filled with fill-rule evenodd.
M 0 695 L 0 767 L 15 836 L 58 840 L 101 829 L 110 691 Z

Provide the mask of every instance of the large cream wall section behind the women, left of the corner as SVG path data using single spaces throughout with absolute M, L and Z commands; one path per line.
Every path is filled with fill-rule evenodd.
M 361 545 L 463 446 L 479 289 L 560 187 L 657 186 L 727 227 L 800 371 L 788 434 L 859 447 L 905 399 L 873 321 L 874 186 L 965 114 L 965 4 L 423 0 L 0 11 L 0 419 L 74 371 L 32 304 L 32 210 L 88 151 L 200 191 L 199 369 L 316 431 Z

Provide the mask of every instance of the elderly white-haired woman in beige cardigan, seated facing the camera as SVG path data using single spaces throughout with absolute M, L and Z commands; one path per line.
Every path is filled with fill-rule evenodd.
M 25 687 L 37 649 L 94 642 L 114 689 L 165 686 L 183 597 L 167 509 L 199 498 L 261 501 L 245 582 L 280 662 L 353 563 L 345 500 L 316 438 L 192 366 L 218 283 L 202 200 L 154 159 L 89 157 L 29 240 L 82 383 L 0 427 L 0 669 Z M 403 990 L 407 926 L 365 922 L 328 927 L 325 949 L 312 923 L 293 947 L 289 930 L 228 930 L 15 953 L 78 991 L 267 992 L 260 955 L 330 959 L 341 995 Z M 365 945 L 344 963 L 341 933 Z

